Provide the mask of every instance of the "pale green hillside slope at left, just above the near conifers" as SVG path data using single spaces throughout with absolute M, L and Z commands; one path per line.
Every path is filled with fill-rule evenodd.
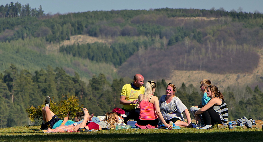
M 51 66 L 52 68 L 62 67 L 71 76 L 74 76 L 74 72 L 78 72 L 85 82 L 88 82 L 93 75 L 100 73 L 105 74 L 108 80 L 119 78 L 113 65 L 64 55 L 58 52 L 58 45 L 58 43 L 46 43 L 38 38 L 1 43 L 0 70 L 3 72 L 11 64 L 15 64 L 19 70 L 26 69 L 34 73 L 36 70 Z

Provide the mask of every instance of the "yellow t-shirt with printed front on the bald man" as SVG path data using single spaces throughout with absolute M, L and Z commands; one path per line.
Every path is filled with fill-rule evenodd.
M 122 89 L 121 89 L 121 96 L 126 96 L 125 100 L 126 101 L 133 101 L 138 99 L 138 96 L 140 94 L 144 93 L 144 87 L 140 87 L 139 89 L 134 89 L 130 84 L 125 84 L 123 85 Z M 132 105 L 123 105 L 122 108 L 127 109 L 127 110 L 133 110 L 135 109 L 136 104 L 132 104 Z

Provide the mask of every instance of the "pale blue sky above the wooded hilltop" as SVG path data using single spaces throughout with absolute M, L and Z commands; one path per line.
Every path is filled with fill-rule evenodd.
M 0 0 L 0 5 L 9 4 L 11 0 Z M 14 3 L 17 2 L 13 1 Z M 29 3 L 31 8 L 42 6 L 44 13 L 68 13 L 85 11 L 111 11 L 122 9 L 156 9 L 156 8 L 193 8 L 193 9 L 219 9 L 226 11 L 237 10 L 263 13 L 263 0 L 20 0 L 22 5 Z

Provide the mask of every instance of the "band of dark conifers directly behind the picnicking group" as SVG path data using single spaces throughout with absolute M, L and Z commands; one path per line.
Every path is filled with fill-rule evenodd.
M 114 79 L 112 83 L 107 81 L 104 74 L 93 76 L 89 83 L 81 81 L 78 73 L 75 76 L 69 76 L 62 68 L 51 68 L 46 70 L 36 70 L 31 74 L 27 70 L 19 71 L 15 65 L 0 74 L 1 79 L 1 101 L 0 101 L 0 121 L 1 128 L 38 124 L 30 123 L 26 109 L 39 106 L 44 103 L 45 96 L 50 96 L 52 102 L 67 99 L 68 96 L 75 96 L 78 104 L 86 107 L 90 113 L 95 116 L 104 115 L 115 107 L 121 108 L 119 103 L 120 90 L 125 83 L 123 78 Z M 130 80 L 132 82 L 132 79 Z M 166 81 L 157 81 L 155 95 L 161 97 L 165 95 Z M 186 86 L 184 83 L 177 86 L 176 96 L 181 99 L 187 108 L 199 105 L 202 98 L 202 92 L 191 84 Z M 263 92 L 255 87 L 254 90 L 246 87 L 244 95 L 246 97 L 236 98 L 238 94 L 227 88 L 222 91 L 224 99 L 229 107 L 229 119 L 236 120 L 242 116 L 252 117 L 256 120 L 262 120 L 263 114 L 261 104 L 263 102 Z M 247 99 L 248 97 L 250 97 Z M 36 108 L 37 109 L 37 108 Z M 56 109 L 56 108 L 53 108 Z M 69 108 L 73 111 L 74 107 Z M 247 111 L 245 111 L 247 110 Z M 64 116 L 62 113 L 58 116 Z M 76 113 L 76 112 L 74 112 Z M 64 114 L 64 115 L 63 115 Z M 193 117 L 193 116 L 191 116 Z

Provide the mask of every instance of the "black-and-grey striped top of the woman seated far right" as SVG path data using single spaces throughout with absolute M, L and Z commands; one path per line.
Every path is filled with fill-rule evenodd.
M 219 98 L 220 99 L 220 98 Z M 220 99 L 222 100 L 222 99 Z M 227 104 L 224 100 L 222 100 L 221 105 L 217 106 L 215 105 L 213 109 L 220 115 L 221 121 L 224 125 L 227 125 L 228 121 L 228 108 Z

